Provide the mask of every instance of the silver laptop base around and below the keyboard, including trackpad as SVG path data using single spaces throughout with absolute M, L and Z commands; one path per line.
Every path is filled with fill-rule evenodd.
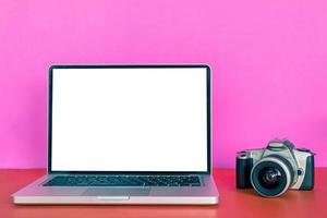
M 75 187 L 44 186 L 44 175 L 12 195 L 17 205 L 215 205 L 218 191 L 210 175 L 204 185 L 190 187 Z

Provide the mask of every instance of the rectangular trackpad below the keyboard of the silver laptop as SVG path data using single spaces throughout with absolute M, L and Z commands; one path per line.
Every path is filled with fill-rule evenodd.
M 147 196 L 150 187 L 88 187 L 83 196 Z

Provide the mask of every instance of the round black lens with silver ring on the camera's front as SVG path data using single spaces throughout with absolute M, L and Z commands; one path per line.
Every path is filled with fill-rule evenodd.
M 251 171 L 251 183 L 263 196 L 274 197 L 284 193 L 293 183 L 294 172 L 291 164 L 279 156 L 259 160 Z

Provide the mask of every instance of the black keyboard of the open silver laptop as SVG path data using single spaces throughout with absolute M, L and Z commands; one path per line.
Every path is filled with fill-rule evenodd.
M 57 175 L 45 186 L 201 186 L 196 175 Z

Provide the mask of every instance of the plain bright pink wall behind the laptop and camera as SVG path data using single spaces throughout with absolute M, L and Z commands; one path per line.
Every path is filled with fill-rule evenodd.
M 326 0 L 0 0 L 0 167 L 46 167 L 53 63 L 208 63 L 214 165 L 287 136 L 327 166 Z

